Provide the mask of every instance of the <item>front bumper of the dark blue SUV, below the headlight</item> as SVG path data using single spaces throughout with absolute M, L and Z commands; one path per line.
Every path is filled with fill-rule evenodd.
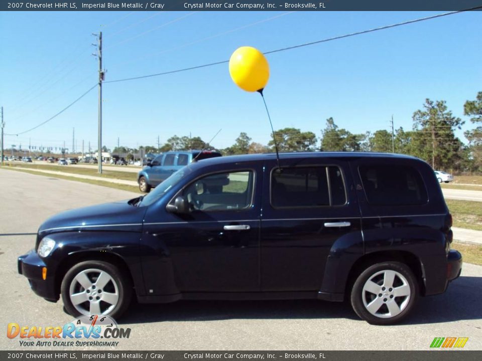
M 28 278 L 32 291 L 48 301 L 58 301 L 59 294 L 55 290 L 55 277 L 53 274 L 49 275 L 47 268 L 47 278 L 42 279 L 42 268 L 47 267 L 47 265 L 35 250 L 20 256 L 17 267 L 19 274 Z

